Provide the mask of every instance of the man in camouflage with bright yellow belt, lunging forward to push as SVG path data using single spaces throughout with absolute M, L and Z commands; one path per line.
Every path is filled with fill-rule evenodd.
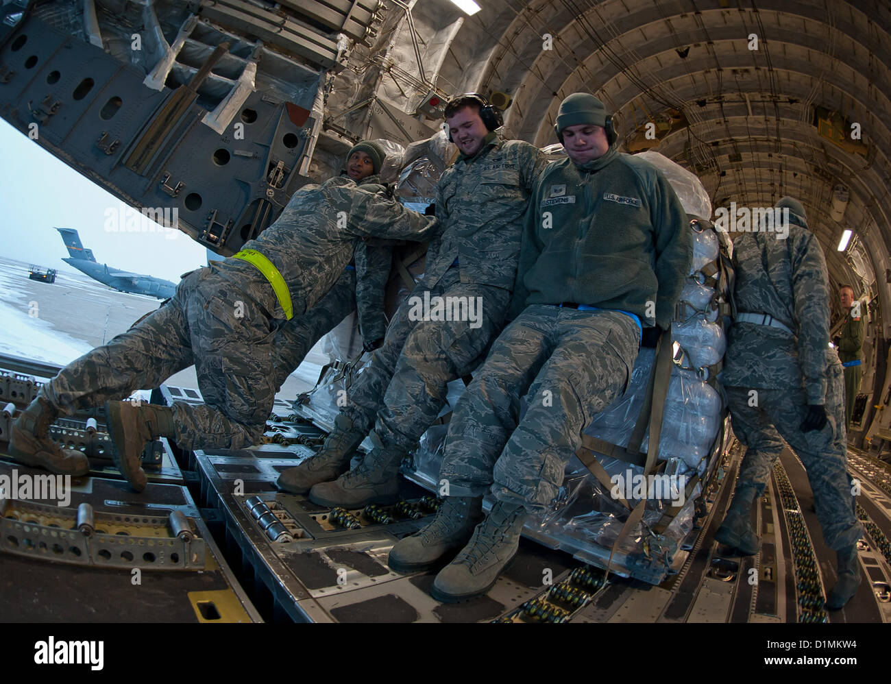
M 360 187 L 347 176 L 303 186 L 275 223 L 240 252 L 255 259 L 258 252 L 274 267 L 281 299 L 272 285 L 275 273 L 267 276 L 235 256 L 187 273 L 167 304 L 69 363 L 43 388 L 16 421 L 11 455 L 56 472 L 86 473 L 86 457 L 61 452 L 46 428 L 59 415 L 103 402 L 116 462 L 137 491 L 146 484 L 140 454 L 148 439 L 175 437 L 187 449 L 256 442 L 278 388 L 274 364 L 282 357 L 279 330 L 285 321 L 306 314 L 331 289 L 356 240 L 423 241 L 436 232 L 436 221 L 405 209 L 383 186 Z M 155 387 L 192 363 L 203 404 L 109 401 Z

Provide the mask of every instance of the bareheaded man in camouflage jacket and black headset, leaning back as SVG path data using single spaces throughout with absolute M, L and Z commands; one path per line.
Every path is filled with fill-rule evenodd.
M 498 124 L 490 119 L 495 114 L 481 104 L 465 97 L 446 108 L 462 156 L 437 183 L 436 215 L 443 232 L 429 247 L 427 272 L 393 316 L 383 346 L 357 376 L 322 450 L 282 473 L 282 489 L 308 490 L 312 501 L 330 506 L 395 501 L 399 463 L 446 404 L 447 383 L 469 373 L 501 330 L 516 276 L 522 218 L 546 159 L 527 142 L 500 139 L 493 132 Z M 432 307 L 437 297 L 478 304 L 474 320 L 470 315 L 437 320 Z M 428 301 L 433 305 L 420 311 Z M 375 449 L 355 471 L 326 482 L 347 468 L 351 452 L 372 428 Z

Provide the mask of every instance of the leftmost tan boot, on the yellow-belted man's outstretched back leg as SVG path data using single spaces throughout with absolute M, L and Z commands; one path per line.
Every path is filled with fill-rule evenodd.
M 25 466 L 46 468 L 59 475 L 82 476 L 90 471 L 86 454 L 62 449 L 49 436 L 49 428 L 59 418 L 59 410 L 44 395 L 44 390 L 29 403 L 12 423 L 9 455 Z

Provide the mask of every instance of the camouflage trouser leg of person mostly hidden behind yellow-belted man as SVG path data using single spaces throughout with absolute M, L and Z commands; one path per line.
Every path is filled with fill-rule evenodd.
M 340 274 L 328 294 L 306 314 L 282 325 L 274 345 L 275 387 L 303 362 L 315 343 L 356 310 L 356 271 Z

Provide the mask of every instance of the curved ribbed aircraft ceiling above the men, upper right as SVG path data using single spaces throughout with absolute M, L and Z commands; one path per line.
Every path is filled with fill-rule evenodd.
M 655 119 L 655 149 L 699 175 L 715 208 L 801 199 L 832 284 L 859 283 L 858 295 L 878 288 L 888 320 L 887 284 L 874 283 L 891 240 L 887 3 L 542 0 L 482 4 L 463 17 L 436 0 L 413 4 L 412 14 L 427 80 L 446 93 L 510 94 L 505 126 L 519 139 L 556 142 L 560 100 L 590 91 L 616 112 L 626 145 L 642 149 L 635 143 Z M 405 33 L 397 31 L 393 59 L 412 71 Z M 399 102 L 398 77 L 380 80 L 380 93 Z M 818 108 L 847 132 L 860 124 L 860 144 L 821 135 Z M 830 216 L 838 184 L 849 196 L 842 221 Z M 861 243 L 850 258 L 836 249 L 845 228 Z

